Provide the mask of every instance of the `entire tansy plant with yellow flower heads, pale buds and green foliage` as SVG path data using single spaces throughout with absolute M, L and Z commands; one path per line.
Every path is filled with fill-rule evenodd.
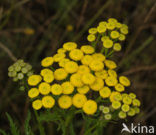
M 116 73 L 117 64 L 110 59 L 114 51 L 121 50 L 126 34 L 127 25 L 110 18 L 89 29 L 90 45 L 79 48 L 67 42 L 54 56 L 44 58 L 39 74 L 29 76 L 30 65 L 22 66 L 22 61 L 9 67 L 14 80 L 23 79 L 26 73 L 29 76 L 27 93 L 40 128 L 42 121 L 53 121 L 64 135 L 74 134 L 73 120 L 81 114 L 84 135 L 102 134 L 108 122 L 140 112 L 140 101 L 127 92 L 130 80 Z

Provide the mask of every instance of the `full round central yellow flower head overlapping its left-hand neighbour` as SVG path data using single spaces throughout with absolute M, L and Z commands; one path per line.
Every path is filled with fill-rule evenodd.
M 93 84 L 95 81 L 95 76 L 91 73 L 85 73 L 82 76 L 82 82 L 84 84 Z

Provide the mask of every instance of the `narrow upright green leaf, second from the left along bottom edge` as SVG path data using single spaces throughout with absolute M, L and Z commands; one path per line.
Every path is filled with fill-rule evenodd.
M 29 125 L 30 119 L 31 119 L 31 113 L 30 113 L 30 111 L 28 111 L 28 115 L 27 115 L 27 118 L 26 118 L 25 124 L 24 124 L 25 135 L 33 135 L 33 132 L 32 132 L 31 127 Z

